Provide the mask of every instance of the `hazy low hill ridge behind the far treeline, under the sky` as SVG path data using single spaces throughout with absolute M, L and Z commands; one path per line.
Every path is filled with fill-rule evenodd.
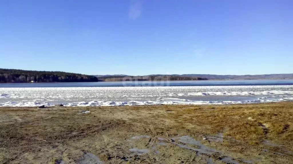
M 99 79 L 107 78 L 123 78 L 128 75 L 93 75 Z M 252 80 L 252 79 L 293 79 L 293 74 L 263 74 L 263 75 L 212 75 L 212 74 L 151 74 L 145 76 L 130 76 L 130 77 L 147 77 L 147 76 L 180 76 L 180 77 L 196 77 L 208 80 Z

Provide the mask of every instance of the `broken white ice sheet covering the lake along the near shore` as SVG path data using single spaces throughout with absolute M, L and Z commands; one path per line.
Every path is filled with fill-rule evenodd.
M 293 86 L 0 88 L 0 106 L 247 104 L 293 101 Z

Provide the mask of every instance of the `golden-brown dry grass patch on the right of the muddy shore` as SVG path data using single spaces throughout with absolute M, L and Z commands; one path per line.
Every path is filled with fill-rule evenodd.
M 293 141 L 293 103 L 198 106 L 176 110 L 168 115 L 177 128 L 194 125 L 194 131 L 213 134 L 225 132 L 247 142 L 270 139 Z

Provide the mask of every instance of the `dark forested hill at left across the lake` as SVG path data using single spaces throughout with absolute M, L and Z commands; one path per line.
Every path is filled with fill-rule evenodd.
M 95 76 L 59 71 L 27 71 L 20 69 L 0 69 L 0 83 L 52 82 L 96 82 Z

